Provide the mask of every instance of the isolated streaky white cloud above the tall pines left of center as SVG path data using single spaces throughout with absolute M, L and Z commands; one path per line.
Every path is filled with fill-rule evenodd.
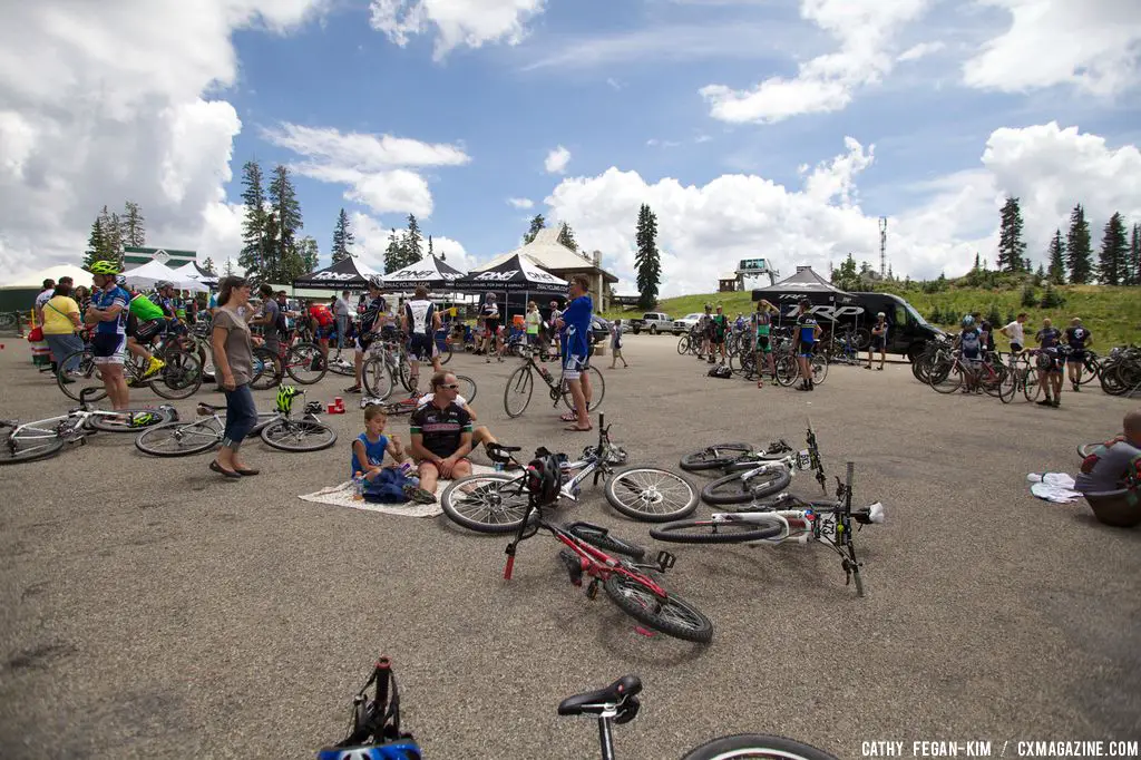
M 471 160 L 455 145 L 391 135 L 341 134 L 332 128 L 290 123 L 264 134 L 275 145 L 305 156 L 305 161 L 293 167 L 298 173 L 348 185 L 345 197 L 377 213 L 430 216 L 432 197 L 428 181 L 407 167 L 456 167 Z

